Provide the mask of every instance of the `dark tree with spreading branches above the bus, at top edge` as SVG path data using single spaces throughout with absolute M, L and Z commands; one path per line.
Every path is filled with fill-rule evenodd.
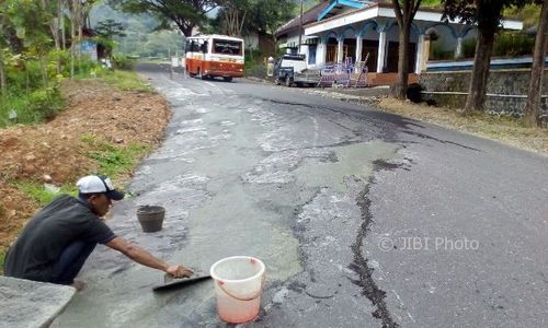
M 148 12 L 167 19 L 185 36 L 191 36 L 194 27 L 207 22 L 205 14 L 217 5 L 215 0 L 111 0 L 109 3 L 125 12 Z

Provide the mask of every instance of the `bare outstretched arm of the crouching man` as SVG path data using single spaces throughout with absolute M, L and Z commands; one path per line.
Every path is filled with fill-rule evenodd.
M 122 237 L 115 237 L 105 244 L 112 249 L 118 250 L 134 261 L 170 273 L 175 278 L 190 277 L 193 271 L 183 266 L 170 266 L 161 259 L 148 253 L 145 248 L 132 244 Z

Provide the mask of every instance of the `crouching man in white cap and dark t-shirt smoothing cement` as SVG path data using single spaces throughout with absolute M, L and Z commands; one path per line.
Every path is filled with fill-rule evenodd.
M 77 186 L 78 198 L 60 196 L 28 221 L 5 256 L 4 276 L 82 290 L 84 283 L 75 277 L 98 243 L 174 278 L 193 273 L 183 266 L 164 262 L 111 231 L 102 218 L 112 201 L 122 200 L 124 194 L 113 187 L 109 177 L 84 176 Z

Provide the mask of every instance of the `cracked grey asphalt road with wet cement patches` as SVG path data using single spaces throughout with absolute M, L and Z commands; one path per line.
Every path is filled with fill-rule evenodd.
M 207 272 L 266 265 L 250 327 L 547 327 L 548 159 L 359 105 L 140 71 L 173 118 L 109 224 Z M 136 208 L 167 209 L 145 234 Z M 224 327 L 214 283 L 98 247 L 53 327 Z

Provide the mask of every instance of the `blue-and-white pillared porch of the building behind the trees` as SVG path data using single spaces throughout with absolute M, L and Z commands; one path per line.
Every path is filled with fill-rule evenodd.
M 304 26 L 300 45 L 299 33 L 284 35 L 281 32 L 279 35 L 286 37 L 287 45 L 295 45 L 293 51 L 305 54 L 310 66 L 365 62 L 368 72 L 396 73 L 399 26 L 393 8 L 386 3 L 366 2 L 332 1 L 318 14 L 316 22 Z M 503 22 L 503 28 L 522 27 L 523 24 L 517 21 Z M 475 26 L 458 21 L 443 22 L 441 12 L 420 10 L 411 26 L 409 72 L 420 74 L 425 70 L 433 52 L 460 58 L 465 40 L 475 37 Z

